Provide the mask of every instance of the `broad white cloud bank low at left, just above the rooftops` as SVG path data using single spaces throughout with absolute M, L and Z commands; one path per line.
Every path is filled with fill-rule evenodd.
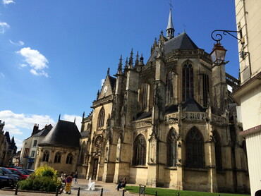
M 39 128 L 44 128 L 46 124 L 54 125 L 54 120 L 47 115 L 36 114 L 15 114 L 13 111 L 0 111 L 1 121 L 5 121 L 4 130 L 10 135 L 23 134 L 22 129 L 32 130 L 35 123 L 39 124 Z M 16 137 L 15 137 L 16 138 Z

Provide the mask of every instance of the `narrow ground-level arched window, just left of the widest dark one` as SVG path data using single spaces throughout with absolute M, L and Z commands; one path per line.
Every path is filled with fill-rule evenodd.
M 176 132 L 174 128 L 171 128 L 171 130 L 169 130 L 169 134 L 166 137 L 166 149 L 167 149 L 166 166 L 176 166 L 177 150 L 176 150 Z

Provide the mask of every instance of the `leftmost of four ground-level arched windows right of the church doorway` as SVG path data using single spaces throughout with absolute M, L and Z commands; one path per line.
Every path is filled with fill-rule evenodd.
M 133 144 L 133 165 L 145 166 L 146 162 L 146 140 L 145 137 L 140 134 L 135 138 Z

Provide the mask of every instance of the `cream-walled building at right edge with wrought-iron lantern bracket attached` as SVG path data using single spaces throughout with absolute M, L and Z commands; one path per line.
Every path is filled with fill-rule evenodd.
M 233 92 L 245 137 L 251 195 L 261 192 L 261 1 L 235 0 L 241 87 Z

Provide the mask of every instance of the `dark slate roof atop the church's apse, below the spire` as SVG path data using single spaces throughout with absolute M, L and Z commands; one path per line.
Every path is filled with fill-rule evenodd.
M 177 35 L 176 37 L 169 39 L 169 41 L 164 43 L 164 54 L 169 54 L 174 49 L 198 49 L 197 45 L 188 37 L 186 32 L 181 33 L 180 35 Z M 152 52 L 152 55 L 150 56 L 150 61 L 154 61 L 155 57 L 157 56 L 157 52 L 159 51 L 159 48 L 156 47 L 154 51 Z

